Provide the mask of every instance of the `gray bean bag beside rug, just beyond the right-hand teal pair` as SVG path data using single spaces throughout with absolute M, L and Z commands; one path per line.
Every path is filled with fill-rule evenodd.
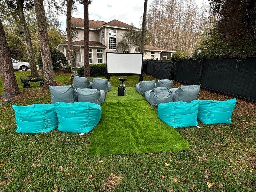
M 145 99 L 153 106 L 173 102 L 172 91 L 167 87 L 156 87 L 151 91 L 146 91 Z

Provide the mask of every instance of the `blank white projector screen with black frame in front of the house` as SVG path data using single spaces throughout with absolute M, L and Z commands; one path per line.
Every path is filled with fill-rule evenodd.
M 141 74 L 142 53 L 107 53 L 108 73 Z

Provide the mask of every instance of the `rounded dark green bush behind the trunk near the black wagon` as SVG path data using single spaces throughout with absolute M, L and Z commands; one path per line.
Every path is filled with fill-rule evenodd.
M 58 71 L 60 67 L 65 67 L 68 65 L 66 57 L 60 51 L 50 47 L 50 53 L 52 57 L 53 71 Z M 41 70 L 43 70 L 43 61 L 41 54 L 38 56 L 37 65 Z

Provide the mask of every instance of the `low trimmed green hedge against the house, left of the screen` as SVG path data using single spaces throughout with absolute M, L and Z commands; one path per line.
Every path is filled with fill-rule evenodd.
M 107 74 L 107 64 L 100 63 L 100 64 L 91 64 L 90 65 L 90 76 L 105 76 Z M 77 75 L 80 77 L 84 76 L 84 66 L 77 68 Z

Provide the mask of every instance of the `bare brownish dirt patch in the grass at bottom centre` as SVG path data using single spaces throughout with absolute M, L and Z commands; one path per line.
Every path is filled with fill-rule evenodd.
M 120 185 L 123 181 L 123 176 L 115 175 L 114 173 L 111 173 L 110 176 L 106 177 L 106 182 L 102 183 L 102 187 L 104 191 L 112 191 L 114 190 L 118 185 Z

